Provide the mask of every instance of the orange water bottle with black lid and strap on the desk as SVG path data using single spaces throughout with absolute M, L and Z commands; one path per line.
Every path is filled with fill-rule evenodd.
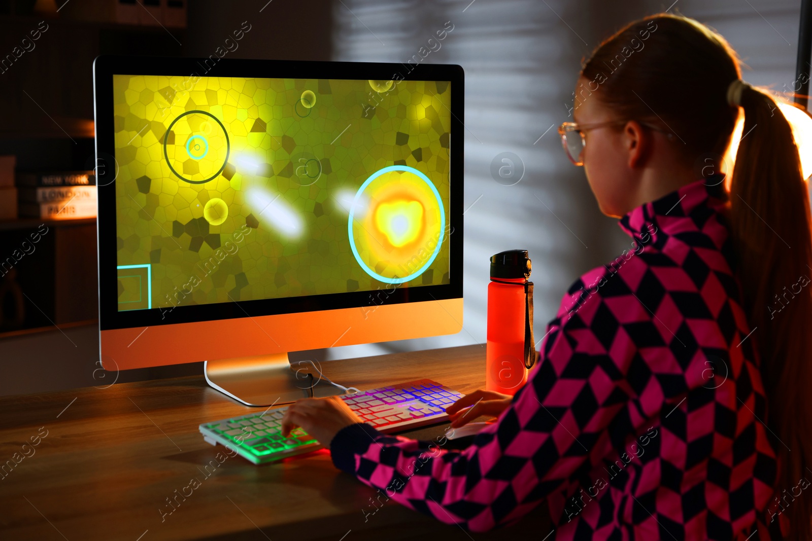
M 527 250 L 490 257 L 485 388 L 513 395 L 536 362 L 533 341 L 533 282 Z

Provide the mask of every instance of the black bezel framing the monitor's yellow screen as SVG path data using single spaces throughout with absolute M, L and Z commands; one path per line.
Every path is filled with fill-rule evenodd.
M 214 57 L 217 58 L 217 57 Z M 136 328 L 151 325 L 194 323 L 270 316 L 383 304 L 414 303 L 463 297 L 463 193 L 464 193 L 464 71 L 456 64 L 401 64 L 383 62 L 300 62 L 287 60 L 248 60 L 219 58 L 205 75 L 201 68 L 209 58 L 163 58 L 100 56 L 93 62 L 94 116 L 96 131 L 96 173 L 98 191 L 97 241 L 100 330 Z M 166 314 L 160 307 L 119 311 L 118 251 L 114 163 L 113 75 L 199 75 L 218 77 L 266 77 L 282 79 L 403 79 L 450 81 L 451 144 L 449 145 L 450 197 L 448 208 L 449 284 L 437 286 L 393 286 L 379 290 L 318 294 L 283 298 L 240 300 L 239 303 L 212 303 L 177 306 Z M 270 75 L 269 75 L 270 74 Z M 317 74 L 316 77 L 313 74 Z M 397 74 L 397 75 L 396 75 Z M 454 143 L 459 138 L 458 143 Z M 454 173 L 452 173 L 454 172 Z M 456 173 L 456 174 L 455 174 Z M 454 175 L 453 178 L 451 175 Z M 459 178 L 457 178 L 459 177 Z

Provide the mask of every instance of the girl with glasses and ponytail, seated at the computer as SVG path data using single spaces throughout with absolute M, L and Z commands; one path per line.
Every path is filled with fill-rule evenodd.
M 740 109 L 728 180 L 712 167 Z M 429 453 L 309 399 L 283 432 L 304 427 L 335 466 L 470 530 L 544 500 L 555 539 L 809 539 L 812 239 L 788 122 L 722 36 L 673 15 L 595 50 L 573 120 L 564 148 L 635 247 L 568 290 L 515 397 L 447 409 L 452 426 L 498 421 Z

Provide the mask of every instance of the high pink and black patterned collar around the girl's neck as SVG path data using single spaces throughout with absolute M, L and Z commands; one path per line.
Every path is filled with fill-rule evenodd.
M 633 238 L 646 234 L 656 241 L 660 231 L 665 234 L 679 233 L 685 231 L 686 225 L 693 230 L 702 230 L 709 217 L 723 213 L 727 201 L 724 174 L 714 174 L 686 184 L 659 200 L 641 204 L 620 218 L 619 225 Z M 686 220 L 693 221 L 693 225 L 686 223 Z

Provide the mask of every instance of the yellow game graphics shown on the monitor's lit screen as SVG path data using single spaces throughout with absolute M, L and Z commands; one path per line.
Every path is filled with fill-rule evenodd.
M 119 310 L 450 282 L 448 82 L 113 87 Z

